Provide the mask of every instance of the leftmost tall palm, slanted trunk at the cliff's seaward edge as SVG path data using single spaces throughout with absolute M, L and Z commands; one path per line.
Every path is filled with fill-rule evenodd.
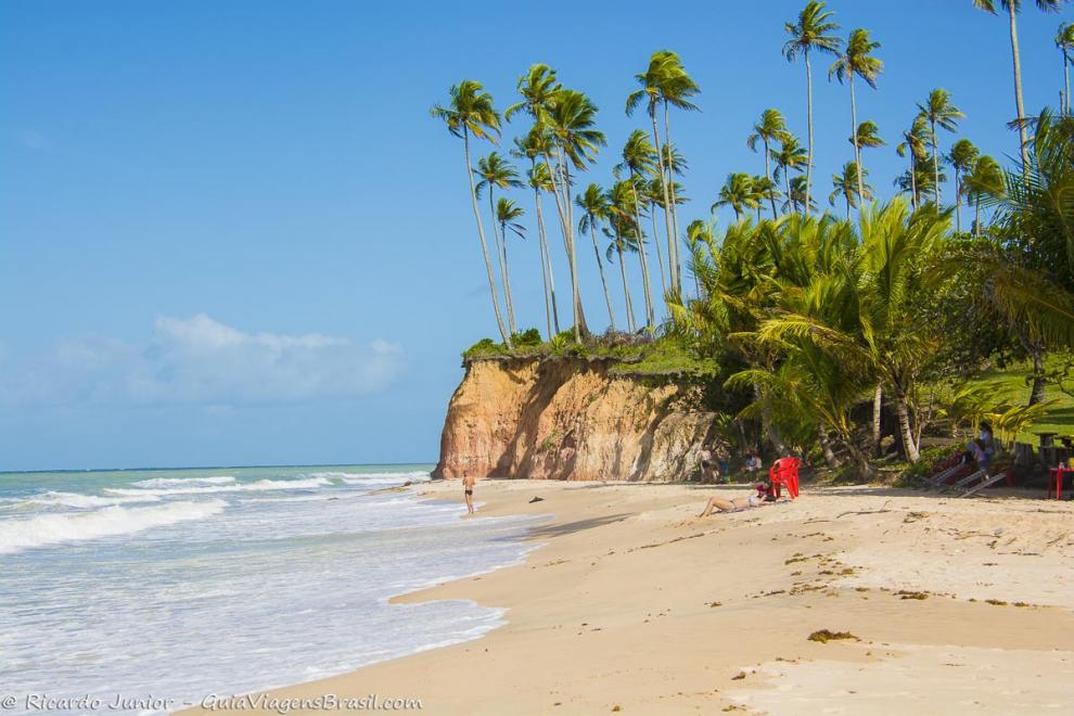
M 470 200 L 473 204 L 474 219 L 477 221 L 477 238 L 481 241 L 481 253 L 485 258 L 485 272 L 488 277 L 488 291 L 493 298 L 493 312 L 496 315 L 496 327 L 500 331 L 503 343 L 511 347 L 511 334 L 503 324 L 500 312 L 500 299 L 496 293 L 496 279 L 493 277 L 493 263 L 488 258 L 488 243 L 485 241 L 485 228 L 481 222 L 481 212 L 477 209 L 477 190 L 474 186 L 474 170 L 470 164 L 470 137 L 488 139 L 493 142 L 500 135 L 500 115 L 493 106 L 493 95 L 484 90 L 481 82 L 464 79 L 452 85 L 448 90 L 450 101 L 447 106 L 436 105 L 430 110 L 430 115 L 442 119 L 453 137 L 462 139 L 462 151 L 466 162 L 466 176 L 470 178 Z

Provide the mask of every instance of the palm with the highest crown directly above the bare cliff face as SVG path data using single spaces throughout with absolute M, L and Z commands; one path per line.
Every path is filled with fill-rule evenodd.
M 666 182 L 672 180 L 672 172 L 665 166 L 664 154 L 661 152 L 660 129 L 656 125 L 656 108 L 663 105 L 664 142 L 670 144 L 668 107 L 674 105 L 680 110 L 696 110 L 698 106 L 690 102 L 690 98 L 698 94 L 701 89 L 687 74 L 679 56 L 669 50 L 654 52 L 649 60 L 649 68 L 643 74 L 636 75 L 635 78 L 641 88 L 627 97 L 626 112 L 628 115 L 634 114 L 634 111 L 641 104 L 642 100 L 647 100 L 647 111 L 653 126 L 653 143 L 660 165 L 660 177 L 662 183 L 664 183 L 664 220 L 667 229 L 668 279 L 672 289 L 678 291 L 680 287 L 676 240 L 678 230 L 673 228 L 673 221 L 676 225 L 678 223 L 678 216 L 675 212 L 675 203 L 672 200 L 670 190 L 666 186 Z

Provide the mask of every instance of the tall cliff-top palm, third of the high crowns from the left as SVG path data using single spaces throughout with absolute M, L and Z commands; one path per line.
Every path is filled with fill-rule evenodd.
M 563 203 L 560 207 L 563 220 L 567 258 L 571 264 L 571 286 L 574 304 L 574 338 L 581 341 L 588 333 L 581 310 L 581 293 L 578 280 L 578 258 L 574 241 L 574 209 L 571 201 L 571 169 L 585 169 L 606 142 L 604 133 L 594 129 L 597 105 L 576 90 L 561 89 L 549 108 L 549 129 L 558 148 L 558 171 L 552 172 L 553 183 L 559 182 Z

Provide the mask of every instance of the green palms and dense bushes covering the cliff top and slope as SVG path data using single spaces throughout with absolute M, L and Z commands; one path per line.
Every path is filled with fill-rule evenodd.
M 1064 2 L 1036 5 L 1051 11 Z M 951 139 L 945 151 L 942 132 L 956 133 L 966 115 L 946 90 L 922 88 L 924 99 L 895 146 L 907 170 L 894 180 L 896 195 L 883 202 L 872 201 L 879 191 L 867 183 L 864 154 L 885 142 L 875 122 L 859 124 L 855 89 L 856 80 L 878 88 L 881 44 L 864 28 L 844 41 L 834 13 L 818 0 L 785 24 L 782 47 L 789 62 L 801 60 L 805 68 L 805 145 L 778 110 L 765 110 L 746 139 L 751 149 L 763 150 L 764 174 L 731 171 L 721 188 L 709 187 L 709 220 L 679 221 L 687 201 L 679 178 L 688 163 L 673 141 L 669 118 L 673 111 L 698 110 L 701 88 L 676 53 L 653 53 L 636 75 L 625 108 L 628 115 L 642 110 L 643 122 L 626 138 L 622 162 L 604 188 L 580 181 L 608 142 L 597 125 L 598 107 L 564 87 L 555 69 L 537 64 L 523 74 L 519 101 L 502 117 L 480 82 L 452 87 L 450 101 L 432 113 L 462 140 L 501 338 L 478 342 L 464 358 L 606 359 L 615 371 L 704 376 L 727 392 L 742 439 L 743 423 L 750 422 L 780 452 L 819 446 L 829 464 L 839 465 L 842 452 L 862 473 L 870 472 L 885 437 L 905 460 L 917 462 L 922 436 L 941 420 L 989 417 L 1000 432 L 1024 434 L 1051 407 L 1046 386 L 1072 389 L 1074 118 L 1069 98 L 1058 113 L 1045 108 L 1034 117 L 1024 111 L 1015 31 L 1022 5 L 999 4 L 1008 11 L 1013 40 L 1019 142 L 1012 166 L 1005 170 L 967 138 Z M 973 5 L 995 13 L 997 3 Z M 1074 47 L 1065 37 L 1061 30 L 1056 39 L 1064 72 Z M 853 153 L 847 149 L 830 194 L 845 218 L 818 216 L 815 201 L 811 63 L 822 55 L 833 61 L 829 78 L 847 87 L 854 127 Z M 514 117 L 529 120 L 511 152 L 528 164 L 525 181 L 497 152 L 471 164 L 471 140 L 498 142 L 502 119 Z M 508 242 L 526 231 L 524 210 L 502 196 L 495 203 L 494 192 L 516 190 L 526 192 L 536 218 L 545 337 L 515 328 Z M 485 191 L 491 254 L 478 206 Z M 549 195 L 555 212 L 546 222 Z M 724 206 L 736 222 L 717 230 L 715 212 Z M 973 214 L 964 227 L 963 206 Z M 553 232 L 562 238 L 568 272 L 566 330 Z M 608 307 L 610 330 L 600 337 L 583 310 L 579 234 L 592 243 Z M 640 293 L 643 310 L 637 314 L 624 266 L 628 256 L 637 258 L 641 277 L 635 295 Z M 617 331 L 623 323 L 611 295 L 619 289 L 605 261 L 619 269 L 627 310 L 618 318 L 625 318 L 626 333 Z M 1020 361 L 1028 366 L 1028 405 L 1012 404 L 993 383 L 974 381 L 988 367 Z

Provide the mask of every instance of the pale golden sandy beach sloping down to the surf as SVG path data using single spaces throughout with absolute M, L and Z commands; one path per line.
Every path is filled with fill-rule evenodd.
M 461 497 L 455 482 L 411 489 Z M 541 547 L 396 601 L 474 600 L 507 624 L 268 695 L 421 699 L 434 714 L 1074 707 L 1074 506 L 808 488 L 695 516 L 747 489 L 478 483 L 477 519 L 548 515 Z M 822 629 L 853 638 L 809 639 Z

